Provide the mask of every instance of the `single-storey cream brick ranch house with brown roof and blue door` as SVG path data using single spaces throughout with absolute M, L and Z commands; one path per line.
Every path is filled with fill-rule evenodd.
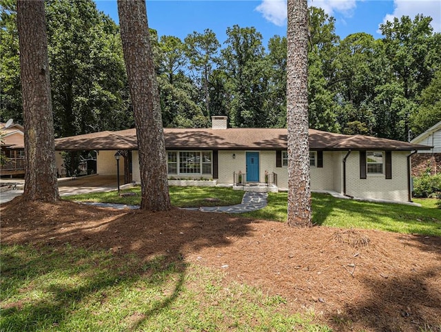
M 214 116 L 211 129 L 165 128 L 170 179 L 212 178 L 219 185 L 265 183 L 287 189 L 287 129 L 231 128 Z M 139 182 L 136 129 L 58 138 L 58 150 L 99 150 L 98 174 L 116 174 L 114 154 L 122 150 Z M 309 129 L 311 189 L 358 198 L 408 201 L 409 156 L 424 145 L 370 136 L 348 136 Z M 127 171 L 126 171 L 127 172 Z M 240 176 L 238 175 L 240 174 Z M 265 175 L 268 176 L 265 176 Z M 239 180 L 240 178 L 240 180 Z

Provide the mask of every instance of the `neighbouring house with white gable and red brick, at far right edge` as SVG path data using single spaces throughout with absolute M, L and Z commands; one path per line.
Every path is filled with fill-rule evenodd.
M 441 174 L 441 121 L 413 138 L 413 144 L 429 145 L 431 149 L 418 150 L 412 156 L 412 176 Z

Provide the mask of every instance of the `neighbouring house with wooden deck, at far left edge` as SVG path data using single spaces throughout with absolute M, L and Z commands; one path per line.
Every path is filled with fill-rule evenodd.
M 21 176 L 25 174 L 24 129 L 18 123 L 0 123 L 0 153 L 6 162 L 0 165 L 0 176 Z

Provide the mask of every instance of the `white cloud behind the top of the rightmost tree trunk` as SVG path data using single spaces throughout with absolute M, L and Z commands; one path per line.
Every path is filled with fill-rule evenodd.
M 329 15 L 340 12 L 350 17 L 356 8 L 356 0 L 308 0 L 308 6 L 322 8 Z M 256 10 L 275 25 L 283 26 L 287 21 L 287 0 L 262 0 Z

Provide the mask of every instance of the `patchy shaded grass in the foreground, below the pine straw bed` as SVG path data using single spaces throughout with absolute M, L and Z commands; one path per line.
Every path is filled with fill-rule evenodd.
M 330 331 L 180 255 L 1 247 L 1 331 Z

